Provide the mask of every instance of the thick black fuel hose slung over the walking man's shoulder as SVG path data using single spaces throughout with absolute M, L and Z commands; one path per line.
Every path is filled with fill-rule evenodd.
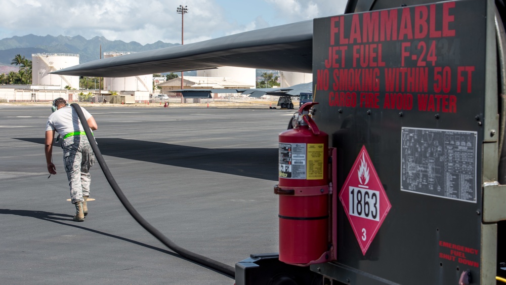
M 90 145 L 93 149 L 93 152 L 95 152 L 95 157 L 97 157 L 97 160 L 100 164 L 100 167 L 102 168 L 102 171 L 104 172 L 105 178 L 109 182 L 109 184 L 112 187 L 112 190 L 114 190 L 114 193 L 116 193 L 116 196 L 118 196 L 119 201 L 123 204 L 126 211 L 132 215 L 132 217 L 149 233 L 151 233 L 154 237 L 156 237 L 159 241 L 161 241 L 165 246 L 167 246 L 169 249 L 173 250 L 174 252 L 178 253 L 182 257 L 194 261 L 197 264 L 206 266 L 208 268 L 212 268 L 220 273 L 223 273 L 224 275 L 235 279 L 235 269 L 232 266 L 229 266 L 227 264 L 221 263 L 219 261 L 210 259 L 205 256 L 201 256 L 199 254 L 193 253 L 191 251 L 188 251 L 174 243 L 172 240 L 168 239 L 165 235 L 163 235 L 159 230 L 157 230 L 155 227 L 153 227 L 150 223 L 148 223 L 138 212 L 134 209 L 130 201 L 125 197 L 123 194 L 123 191 L 119 188 L 118 184 L 116 183 L 116 180 L 114 180 L 114 177 L 112 177 L 111 172 L 109 171 L 109 168 L 107 167 L 107 164 L 105 163 L 104 157 L 102 156 L 102 153 L 100 152 L 100 149 L 98 148 L 97 142 L 95 142 L 95 139 L 93 137 L 92 131 L 90 130 L 90 126 L 88 126 L 88 123 L 85 118 L 85 114 L 82 113 L 81 107 L 77 103 L 70 104 L 75 111 L 77 112 L 77 115 L 79 116 L 79 120 L 81 121 L 82 127 L 85 129 L 86 137 L 88 138 L 88 141 L 90 141 Z

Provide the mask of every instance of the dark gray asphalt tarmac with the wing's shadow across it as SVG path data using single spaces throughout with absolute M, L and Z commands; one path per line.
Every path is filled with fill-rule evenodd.
M 125 196 L 178 246 L 235 266 L 278 251 L 278 134 L 293 110 L 86 107 Z M 75 208 L 44 133 L 51 106 L 0 106 L 0 284 L 234 284 L 166 248 L 123 208 L 98 163 Z

